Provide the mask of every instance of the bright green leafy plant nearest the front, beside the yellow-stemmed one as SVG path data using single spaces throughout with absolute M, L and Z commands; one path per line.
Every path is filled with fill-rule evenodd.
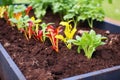
M 85 56 L 90 59 L 96 48 L 105 44 L 105 42 L 102 41 L 104 39 L 106 39 L 106 37 L 96 34 L 94 30 L 91 30 L 89 33 L 84 32 L 81 37 L 76 36 L 76 40 L 69 40 L 68 42 L 78 46 L 78 53 L 80 53 L 80 50 L 83 49 Z

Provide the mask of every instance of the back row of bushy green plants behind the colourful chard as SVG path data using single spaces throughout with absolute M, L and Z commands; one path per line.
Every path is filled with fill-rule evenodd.
M 53 13 L 59 13 L 61 19 L 73 20 L 74 24 L 79 21 L 88 21 L 90 28 L 93 28 L 93 21 L 103 21 L 104 11 L 102 8 L 104 0 L 31 0 L 31 6 L 35 9 L 37 18 L 42 18 L 46 14 L 47 8 L 51 8 Z M 112 0 L 108 0 L 112 2 Z

